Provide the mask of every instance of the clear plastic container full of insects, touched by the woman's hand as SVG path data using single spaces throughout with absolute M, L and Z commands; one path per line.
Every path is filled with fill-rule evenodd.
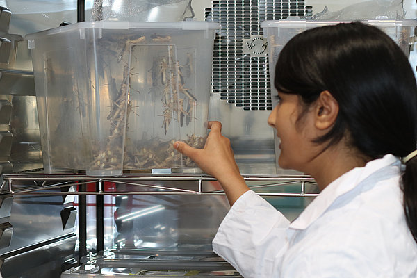
M 81 22 L 26 35 L 45 171 L 115 175 L 194 166 L 172 142 L 204 146 L 219 28 Z

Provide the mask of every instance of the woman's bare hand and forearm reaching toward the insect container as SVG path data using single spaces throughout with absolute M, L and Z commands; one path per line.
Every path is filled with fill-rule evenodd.
M 204 172 L 218 179 L 232 206 L 240 195 L 250 189 L 240 175 L 229 138 L 222 136 L 222 124 L 208 122 L 208 129 L 211 131 L 204 149 L 195 149 L 179 141 L 174 142 L 174 147 L 197 163 Z

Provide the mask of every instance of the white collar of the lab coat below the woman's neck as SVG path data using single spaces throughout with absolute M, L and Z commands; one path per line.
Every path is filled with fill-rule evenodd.
M 307 206 L 300 216 L 295 219 L 289 226 L 290 229 L 306 229 L 311 223 L 317 220 L 333 202 L 341 195 L 357 187 L 361 181 L 365 180 L 371 174 L 382 168 L 398 164 L 400 161 L 392 154 L 386 154 L 383 158 L 375 159 L 366 163 L 364 167 L 357 167 L 332 181 L 320 195 Z

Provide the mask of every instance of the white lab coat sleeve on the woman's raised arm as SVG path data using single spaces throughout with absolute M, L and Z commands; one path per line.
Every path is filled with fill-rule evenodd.
M 247 191 L 231 207 L 213 240 L 213 251 L 243 277 L 275 277 L 287 248 L 290 222 L 282 213 Z

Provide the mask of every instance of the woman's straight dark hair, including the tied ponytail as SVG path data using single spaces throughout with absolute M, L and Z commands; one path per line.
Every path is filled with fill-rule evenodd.
M 409 60 L 379 28 L 360 22 L 313 28 L 292 38 L 275 67 L 279 92 L 300 95 L 306 107 L 328 90 L 338 101 L 333 128 L 314 142 L 327 147 L 349 134 L 372 159 L 404 157 L 417 147 L 417 86 Z M 417 242 L 417 158 L 402 174 L 404 212 Z

